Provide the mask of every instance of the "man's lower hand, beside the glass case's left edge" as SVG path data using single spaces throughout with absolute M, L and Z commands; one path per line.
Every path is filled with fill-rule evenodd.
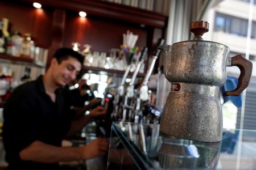
M 109 150 L 109 139 L 97 138 L 83 147 L 82 157 L 84 159 L 91 159 L 97 156 L 103 156 Z

